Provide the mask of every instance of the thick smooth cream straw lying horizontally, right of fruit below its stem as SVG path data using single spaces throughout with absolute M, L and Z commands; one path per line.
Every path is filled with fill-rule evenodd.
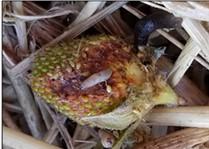
M 209 128 L 209 106 L 155 108 L 145 118 L 149 125 Z

